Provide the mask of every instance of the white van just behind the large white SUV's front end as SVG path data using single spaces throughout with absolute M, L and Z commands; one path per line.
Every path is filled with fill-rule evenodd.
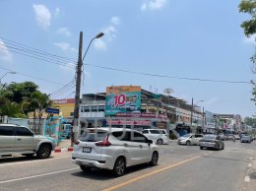
M 168 144 L 168 134 L 163 129 L 144 129 L 142 133 L 159 145 Z

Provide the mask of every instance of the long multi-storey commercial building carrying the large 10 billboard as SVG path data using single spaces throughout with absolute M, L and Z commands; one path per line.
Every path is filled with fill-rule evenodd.
M 193 119 L 191 120 L 191 111 Z M 105 93 L 83 95 L 80 105 L 81 128 L 126 126 L 190 131 L 201 127 L 200 107 L 174 96 L 154 94 L 139 86 L 108 87 Z

